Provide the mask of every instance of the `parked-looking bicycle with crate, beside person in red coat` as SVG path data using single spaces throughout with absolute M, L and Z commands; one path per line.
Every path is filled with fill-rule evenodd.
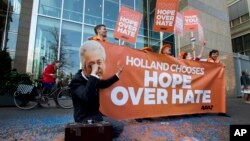
M 19 84 L 14 92 L 14 103 L 20 109 L 32 109 L 39 104 L 50 106 L 50 101 L 54 99 L 55 103 L 61 108 L 69 109 L 73 107 L 72 97 L 69 87 L 64 86 L 62 81 L 50 92 L 45 93 L 41 81 L 35 81 L 35 84 Z

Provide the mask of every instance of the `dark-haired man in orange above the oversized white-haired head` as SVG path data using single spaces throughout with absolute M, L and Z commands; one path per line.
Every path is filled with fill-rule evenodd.
M 107 29 L 104 24 L 99 24 L 95 26 L 94 28 L 96 36 L 88 38 L 89 40 L 95 40 L 100 42 L 106 42 L 107 41 Z

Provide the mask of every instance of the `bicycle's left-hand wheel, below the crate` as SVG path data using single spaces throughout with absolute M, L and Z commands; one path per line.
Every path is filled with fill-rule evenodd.
M 29 100 L 25 94 L 18 93 L 17 91 L 15 91 L 13 97 L 15 105 L 20 109 L 32 109 L 38 104 L 36 101 Z

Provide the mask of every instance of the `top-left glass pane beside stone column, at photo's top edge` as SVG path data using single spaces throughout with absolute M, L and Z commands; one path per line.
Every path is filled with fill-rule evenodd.
M 40 0 L 39 14 L 59 18 L 61 17 L 61 7 L 61 0 Z

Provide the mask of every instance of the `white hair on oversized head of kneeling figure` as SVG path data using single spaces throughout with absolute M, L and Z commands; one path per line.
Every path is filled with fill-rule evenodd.
M 97 41 L 89 40 L 89 41 L 84 42 L 79 50 L 82 66 L 84 66 L 85 64 L 84 55 L 86 52 L 99 52 L 103 60 L 104 61 L 106 60 L 106 53 L 105 53 L 104 47 Z

